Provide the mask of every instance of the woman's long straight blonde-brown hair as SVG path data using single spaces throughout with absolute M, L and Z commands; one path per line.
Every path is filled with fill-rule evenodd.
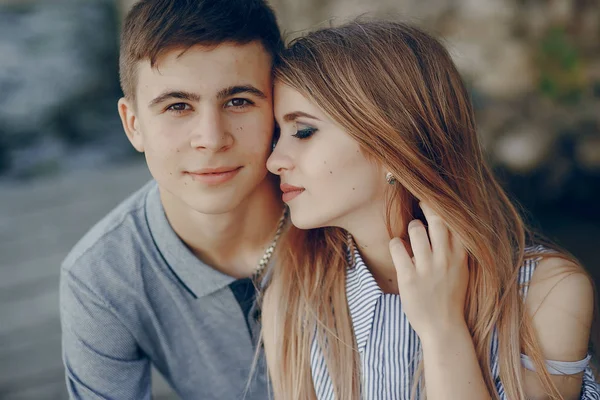
M 426 199 L 463 241 L 470 269 L 465 318 L 490 393 L 496 393 L 490 343 L 497 328 L 507 397 L 525 398 L 523 352 L 547 392 L 560 398 L 519 295 L 526 229 L 486 166 L 467 90 L 444 47 L 405 24 L 355 21 L 293 41 L 275 77 L 313 101 L 396 177 L 387 202 L 390 233 L 405 237 L 405 226 L 392 226 L 390 216 L 406 225 L 418 216 L 417 199 Z M 336 398 L 360 398 L 345 244 L 338 228 L 291 228 L 282 238 L 262 312 L 277 400 L 315 398 L 310 369 L 315 335 Z M 422 365 L 417 375 L 421 372 Z

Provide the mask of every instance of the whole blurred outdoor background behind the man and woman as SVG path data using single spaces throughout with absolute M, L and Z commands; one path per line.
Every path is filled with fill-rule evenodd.
M 117 116 L 132 0 L 0 0 L 0 399 L 66 398 L 58 271 L 149 174 Z M 600 266 L 597 0 L 271 0 L 287 38 L 352 16 L 441 37 L 500 181 L 543 234 Z M 201 373 L 201 371 L 199 371 Z M 156 398 L 174 398 L 156 379 Z

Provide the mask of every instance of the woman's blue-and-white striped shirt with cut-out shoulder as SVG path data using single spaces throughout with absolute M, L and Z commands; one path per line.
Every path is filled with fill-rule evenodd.
M 536 249 L 539 250 L 539 249 Z M 528 260 L 519 271 L 521 284 L 529 282 L 538 260 Z M 354 250 L 349 257 L 346 276 L 348 307 L 352 318 L 356 344 L 361 360 L 362 398 L 364 400 L 410 399 L 413 377 L 419 364 L 420 341 L 402 311 L 400 296 L 383 293 L 373 275 Z M 527 286 L 523 287 L 523 296 Z M 502 400 L 506 400 L 498 368 L 498 341 L 496 335 L 490 348 L 492 374 L 496 389 Z M 523 365 L 533 369 L 526 356 Z M 584 372 L 582 400 L 600 400 L 600 386 L 595 382 L 588 366 L 589 356 L 584 360 L 565 363 L 547 361 L 550 373 L 574 374 Z M 315 340 L 311 348 L 311 369 L 314 387 L 319 400 L 333 400 L 335 394 L 325 357 Z M 417 391 L 417 398 L 419 398 Z

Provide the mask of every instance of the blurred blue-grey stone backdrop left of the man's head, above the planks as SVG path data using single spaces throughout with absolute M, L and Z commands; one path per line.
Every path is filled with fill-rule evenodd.
M 0 173 L 94 167 L 129 151 L 118 24 L 112 0 L 1 0 Z

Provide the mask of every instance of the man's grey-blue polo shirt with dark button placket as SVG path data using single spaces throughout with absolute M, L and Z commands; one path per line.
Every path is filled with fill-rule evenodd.
M 253 286 L 203 264 L 172 230 L 150 182 L 100 221 L 61 269 L 63 360 L 73 399 L 148 399 L 154 364 L 182 399 L 249 391 Z M 250 314 L 250 315 L 249 315 Z

